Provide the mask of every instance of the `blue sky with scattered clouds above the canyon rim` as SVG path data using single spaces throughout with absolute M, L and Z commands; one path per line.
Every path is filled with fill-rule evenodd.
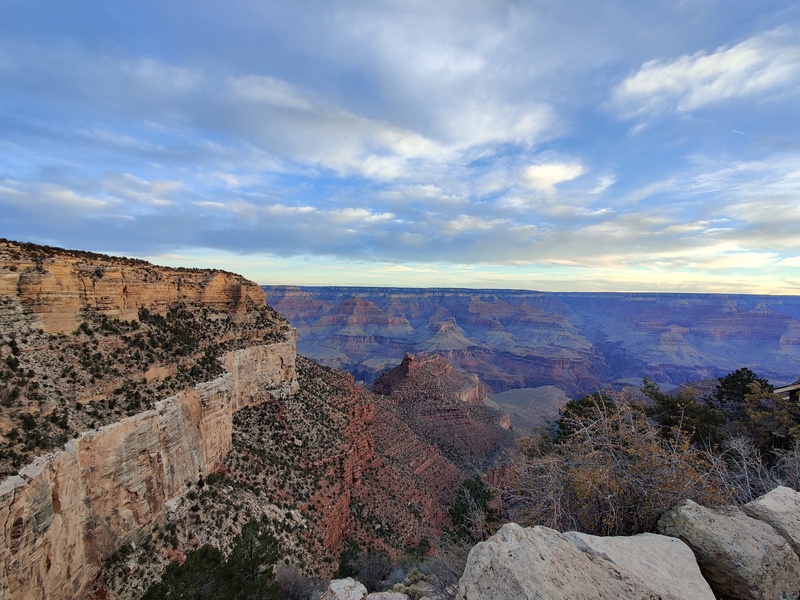
M 2 0 L 0 237 L 260 284 L 800 294 L 800 3 Z

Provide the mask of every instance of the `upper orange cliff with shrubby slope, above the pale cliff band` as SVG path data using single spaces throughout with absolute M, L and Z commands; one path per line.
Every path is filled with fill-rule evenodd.
M 229 273 L 0 242 L 0 288 L 0 475 L 219 377 L 235 350 L 295 345 Z

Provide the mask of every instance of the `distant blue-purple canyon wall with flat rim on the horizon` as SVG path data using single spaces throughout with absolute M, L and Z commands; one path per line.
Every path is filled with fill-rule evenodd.
M 797 377 L 800 297 L 266 286 L 301 353 L 372 382 L 433 352 L 490 392 L 680 384 L 743 365 Z

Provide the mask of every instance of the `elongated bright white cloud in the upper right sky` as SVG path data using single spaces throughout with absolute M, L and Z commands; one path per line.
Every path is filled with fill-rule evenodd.
M 613 91 L 626 118 L 664 110 L 688 112 L 732 99 L 800 89 L 798 33 L 781 28 L 723 46 L 645 63 Z

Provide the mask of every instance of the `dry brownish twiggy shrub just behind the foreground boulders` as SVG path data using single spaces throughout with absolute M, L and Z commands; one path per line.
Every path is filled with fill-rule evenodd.
M 629 535 L 652 531 L 661 514 L 686 498 L 729 499 L 718 462 L 679 428 L 665 436 L 638 405 L 587 398 L 580 411 L 562 416 L 568 435 L 523 441 L 507 498 L 514 520 Z

